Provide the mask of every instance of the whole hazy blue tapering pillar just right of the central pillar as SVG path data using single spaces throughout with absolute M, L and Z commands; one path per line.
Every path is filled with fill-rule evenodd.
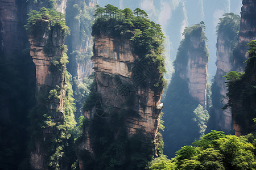
M 207 108 L 207 38 L 203 25 L 185 28 L 164 99 L 164 153 L 174 153 L 204 134 Z M 202 119 L 202 117 L 204 117 Z M 202 121 L 203 120 L 203 121 Z

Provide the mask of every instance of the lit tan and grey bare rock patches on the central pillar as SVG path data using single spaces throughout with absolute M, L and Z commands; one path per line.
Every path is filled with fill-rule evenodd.
M 135 101 L 132 109 L 139 114 L 138 119 L 134 117 L 127 117 L 126 126 L 130 136 L 136 134 L 137 129 L 144 129 L 144 133 L 150 134 L 151 139 L 155 138 L 155 134 L 158 131 L 159 113 L 161 109 L 156 109 L 156 106 L 160 104 L 160 97 L 163 88 L 153 88 L 154 82 L 157 82 L 160 78 L 160 74 L 147 73 L 148 75 L 141 75 L 138 73 L 139 66 L 146 65 L 145 61 L 141 61 L 139 65 L 135 65 L 138 56 L 133 53 L 133 48 L 129 41 L 116 40 L 109 36 L 102 35 L 101 37 L 95 37 L 94 42 L 94 56 L 92 60 L 94 62 L 95 80 L 97 84 L 97 92 L 102 95 L 102 101 L 105 103 L 108 101 L 109 105 L 115 108 L 122 109 L 122 105 L 125 103 L 131 93 L 138 95 L 134 97 Z M 154 69 L 157 69 L 154 67 Z M 138 72 L 137 72 L 138 71 Z M 157 71 L 157 70 L 146 70 Z M 158 74 L 154 82 L 151 82 L 151 75 Z M 114 77 L 118 77 L 119 80 L 114 80 Z M 110 79 L 105 79 L 110 77 Z M 143 82 L 142 82 L 143 81 Z M 133 82 L 133 87 L 129 87 L 126 84 Z M 142 88 L 141 84 L 146 88 Z M 124 89 L 123 89 L 124 88 Z M 118 91 L 120 90 L 120 91 Z M 116 94 L 117 93 L 117 94 Z M 130 94 L 129 94 L 130 93 Z M 126 96 L 127 95 L 127 96 Z M 96 112 L 92 112 L 92 118 Z

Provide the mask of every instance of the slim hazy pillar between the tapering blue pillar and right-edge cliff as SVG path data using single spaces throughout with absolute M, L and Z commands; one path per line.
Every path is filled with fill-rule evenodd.
M 212 85 L 212 108 L 210 109 L 209 130 L 222 130 L 232 133 L 232 113 L 229 108 L 221 110 L 228 103 L 226 79 L 223 77 L 234 70 L 232 50 L 237 44 L 240 16 L 225 14 L 217 26 L 217 71 Z

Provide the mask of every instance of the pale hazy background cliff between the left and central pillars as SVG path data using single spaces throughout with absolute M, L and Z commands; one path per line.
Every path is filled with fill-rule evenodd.
M 73 5 L 79 5 L 79 10 L 74 11 Z M 67 25 L 71 28 L 71 36 L 67 38 L 67 44 L 69 52 L 75 52 L 76 50 L 80 52 L 82 55 L 88 56 L 90 48 L 92 48 L 93 41 L 92 36 L 90 35 L 90 31 L 84 29 L 83 24 L 90 23 L 81 23 L 79 19 L 76 19 L 76 15 L 84 15 L 84 12 L 88 10 L 88 7 L 94 7 L 98 4 L 98 0 L 86 0 L 84 1 L 76 0 L 76 1 L 68 1 L 67 2 L 67 11 L 69 15 L 67 17 Z M 85 5 L 85 6 L 84 6 Z M 88 14 L 87 14 L 88 15 Z M 93 15 L 93 14 L 89 14 Z M 90 22 L 90 20 L 88 20 Z M 90 27 L 88 27 L 90 29 Z M 87 35 L 81 35 L 81 33 Z M 90 59 L 91 56 L 83 59 L 82 61 L 76 58 L 75 55 L 69 55 L 70 61 L 68 65 L 68 70 L 72 74 L 73 77 L 77 76 L 79 83 L 86 77 L 92 74 L 93 72 L 93 62 Z

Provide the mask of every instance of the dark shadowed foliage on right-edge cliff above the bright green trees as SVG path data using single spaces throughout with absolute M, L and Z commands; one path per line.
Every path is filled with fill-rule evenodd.
M 231 71 L 225 75 L 229 97 L 226 107 L 232 109 L 232 117 L 241 128 L 242 134 L 255 131 L 253 118 L 256 118 L 256 41 L 250 41 L 249 58 L 247 59 L 245 73 Z

